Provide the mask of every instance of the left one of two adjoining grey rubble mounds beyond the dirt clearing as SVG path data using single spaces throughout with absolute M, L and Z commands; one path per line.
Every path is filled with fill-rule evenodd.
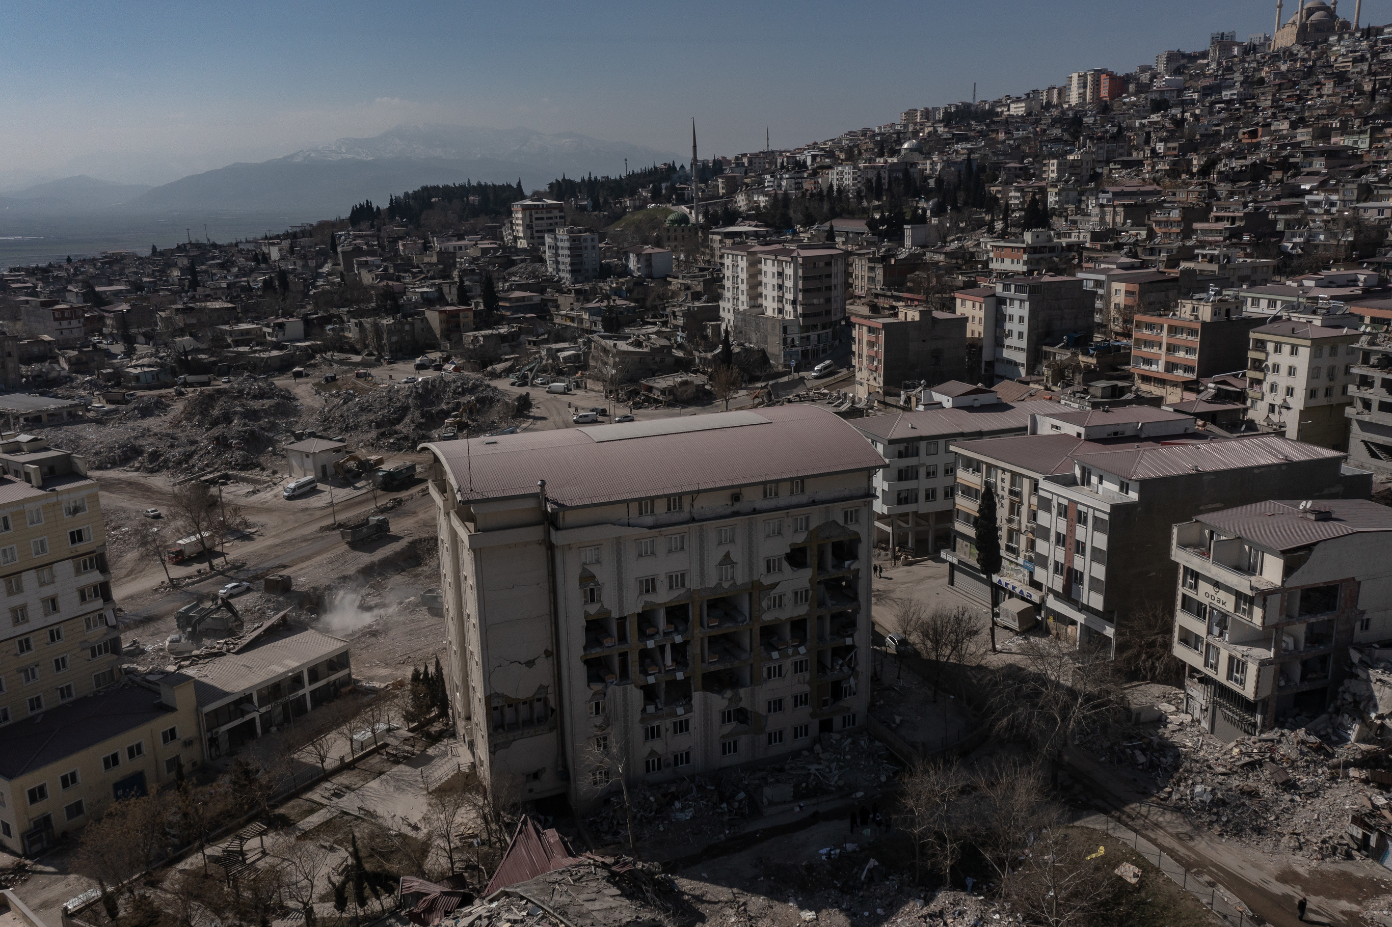
M 96 469 L 249 470 L 298 415 L 295 398 L 264 380 L 202 390 L 177 415 L 171 408 L 163 398 L 138 397 L 102 422 L 63 427 L 53 441 Z

